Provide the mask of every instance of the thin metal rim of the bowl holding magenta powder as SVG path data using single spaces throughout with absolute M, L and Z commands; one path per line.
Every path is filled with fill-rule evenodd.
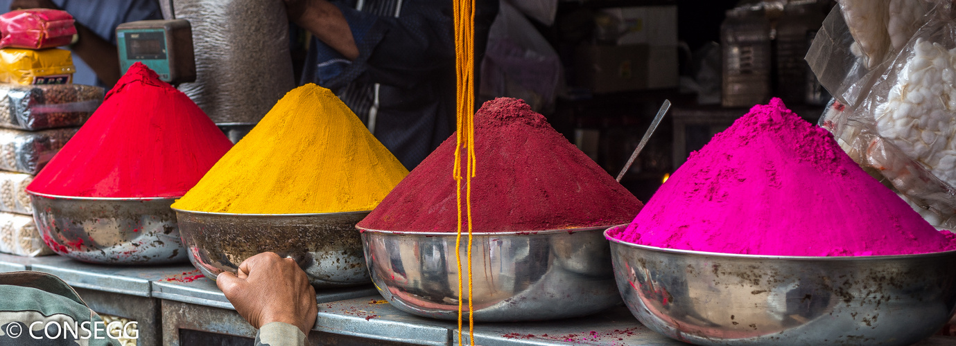
M 726 253 L 711 253 L 706 251 L 694 251 L 694 250 L 683 250 L 683 249 L 668 249 L 668 248 L 659 248 L 656 246 L 641 245 L 628 241 L 623 241 L 617 238 L 611 237 L 608 233 L 611 230 L 617 229 L 619 227 L 627 227 L 629 224 L 620 224 L 613 226 L 604 231 L 604 238 L 614 245 L 618 245 L 630 248 L 637 248 L 641 250 L 653 251 L 658 253 L 666 254 L 691 254 L 691 255 L 701 255 L 701 256 L 712 256 L 712 257 L 725 257 L 725 258 L 748 258 L 748 259 L 786 259 L 786 260 L 799 260 L 799 261 L 859 261 L 859 260 L 886 260 L 886 259 L 906 259 L 906 258 L 917 258 L 917 257 L 935 257 L 935 256 L 945 256 L 945 255 L 956 255 L 956 250 L 943 251 L 939 253 L 926 253 L 926 254 L 881 254 L 881 255 L 778 255 L 778 254 L 726 254 Z M 612 252 L 612 255 L 613 252 Z

